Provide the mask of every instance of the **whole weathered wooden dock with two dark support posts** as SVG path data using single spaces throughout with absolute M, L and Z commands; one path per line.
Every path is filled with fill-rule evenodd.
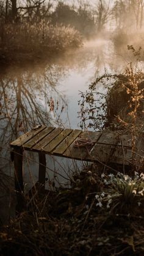
M 23 150 L 38 152 L 38 182 L 45 185 L 45 155 L 91 161 L 137 165 L 144 157 L 144 137 L 135 138 L 133 149 L 132 135 L 118 132 L 93 132 L 55 128 L 40 125 L 13 141 L 15 166 L 15 189 L 23 192 Z

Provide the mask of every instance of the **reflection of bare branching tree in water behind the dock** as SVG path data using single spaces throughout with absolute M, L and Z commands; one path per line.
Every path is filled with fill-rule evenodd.
M 57 67 L 58 68 L 58 67 Z M 48 65 L 43 73 L 19 71 L 15 76 L 2 76 L 0 80 L 1 95 L 1 147 L 9 143 L 37 124 L 49 125 L 48 99 L 56 97 L 60 103 L 65 103 L 56 85 L 63 70 L 56 70 L 56 66 Z

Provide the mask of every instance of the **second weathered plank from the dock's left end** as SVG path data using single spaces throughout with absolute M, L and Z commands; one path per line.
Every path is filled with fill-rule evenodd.
M 23 144 L 24 148 L 32 148 L 35 144 L 38 144 L 44 137 L 46 137 L 49 133 L 51 133 L 55 128 L 53 126 L 46 127 L 45 130 L 41 131 L 28 142 Z

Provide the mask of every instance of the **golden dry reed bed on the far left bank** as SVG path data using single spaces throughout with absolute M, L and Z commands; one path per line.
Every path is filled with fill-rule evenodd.
M 3 31 L 3 32 L 2 32 Z M 0 32 L 0 53 L 8 59 L 52 54 L 82 45 L 79 32 L 71 27 L 41 21 L 40 23 L 4 24 Z M 20 55 L 21 54 L 21 55 Z

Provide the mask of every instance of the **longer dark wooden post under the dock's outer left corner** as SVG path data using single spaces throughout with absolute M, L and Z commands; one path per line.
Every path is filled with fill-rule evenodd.
M 16 211 L 20 213 L 24 208 L 24 183 L 23 183 L 23 148 L 13 149 L 13 160 L 15 167 L 15 191 L 16 191 Z

